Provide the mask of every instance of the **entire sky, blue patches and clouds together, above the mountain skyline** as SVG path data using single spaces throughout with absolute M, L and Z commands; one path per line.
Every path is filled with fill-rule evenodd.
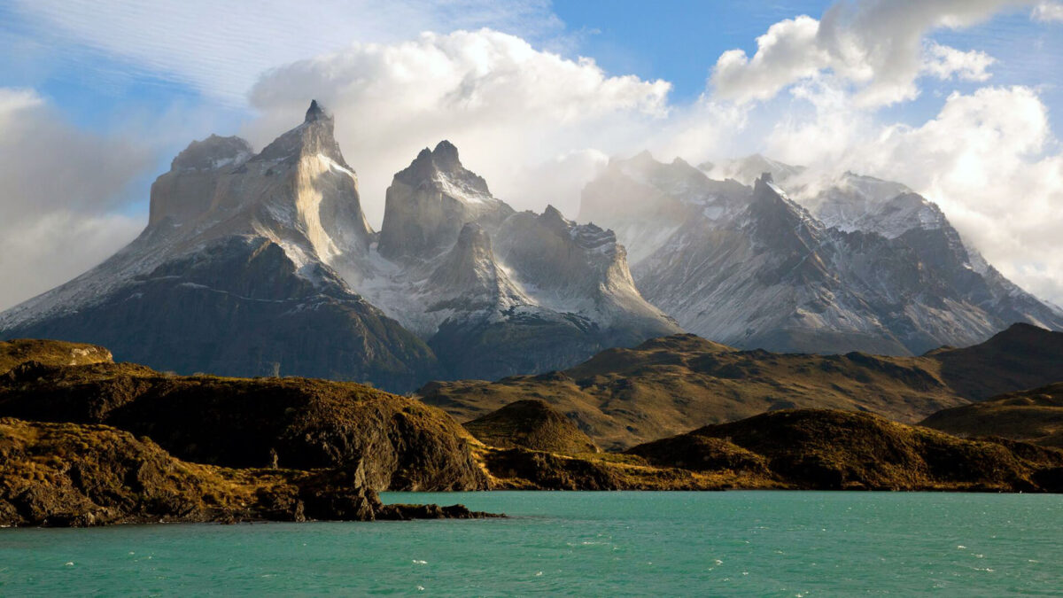
M 0 0 L 0 146 L 21 159 L 0 168 L 0 236 L 48 272 L 0 276 L 28 296 L 83 270 L 142 227 L 189 140 L 260 147 L 315 96 L 371 221 L 391 173 L 442 137 L 507 201 L 570 216 L 609 155 L 763 152 L 912 186 L 1061 302 L 1063 258 L 1046 255 L 1063 251 L 1031 240 L 1063 227 L 1061 32 L 1052 0 Z M 34 127 L 80 143 L 20 140 Z M 19 180 L 55 156 L 69 176 Z M 48 249 L 70 237 L 60 220 L 96 242 Z

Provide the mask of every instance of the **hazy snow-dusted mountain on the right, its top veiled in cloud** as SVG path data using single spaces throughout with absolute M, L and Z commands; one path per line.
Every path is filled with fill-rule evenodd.
M 687 330 L 743 348 L 918 354 L 1014 321 L 1063 328 L 904 185 L 847 173 L 813 189 L 761 156 L 725 166 L 713 171 L 764 170 L 749 188 L 642 154 L 584 192 L 580 216 L 619 232 L 641 256 L 639 288 Z

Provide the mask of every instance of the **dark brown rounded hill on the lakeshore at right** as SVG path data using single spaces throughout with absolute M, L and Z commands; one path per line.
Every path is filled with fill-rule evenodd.
M 967 441 L 868 413 L 784 410 L 627 452 L 664 467 L 766 468 L 798 488 L 1063 491 L 1063 451 Z

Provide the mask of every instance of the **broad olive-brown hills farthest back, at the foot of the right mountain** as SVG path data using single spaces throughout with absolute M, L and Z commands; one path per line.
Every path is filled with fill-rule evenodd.
M 1009 352 L 1023 355 L 1022 363 L 1000 358 Z M 871 412 L 913 423 L 982 398 L 989 387 L 1017 391 L 1063 380 L 1061 368 L 1063 333 L 1026 325 L 982 345 L 918 358 L 739 351 L 678 334 L 609 349 L 564 371 L 497 382 L 433 382 L 418 395 L 461 421 L 513 401 L 540 399 L 598 446 L 617 450 L 696 423 L 780 409 Z

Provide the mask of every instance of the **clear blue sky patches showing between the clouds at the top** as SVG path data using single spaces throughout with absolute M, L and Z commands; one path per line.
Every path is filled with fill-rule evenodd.
M 539 48 L 569 57 L 592 57 L 610 74 L 663 79 L 672 84 L 671 101 L 684 104 L 705 93 L 711 68 L 723 52 L 741 48 L 752 55 L 757 36 L 771 24 L 797 15 L 819 17 L 831 4 L 560 0 L 545 4 L 543 12 L 556 19 L 550 26 L 525 28 L 518 21 L 497 29 L 523 35 Z M 238 131 L 241 123 L 254 118 L 247 105 L 212 97 L 180 76 L 152 69 L 120 52 L 108 52 L 90 41 L 54 32 L 51 37 L 41 37 L 47 19 L 28 10 L 28 5 L 32 3 L 0 2 L 0 41 L 10 50 L 9 60 L 0 63 L 0 86 L 35 89 L 79 128 L 106 134 L 128 127 L 131 117 L 148 122 L 170 113 L 193 112 L 199 122 L 191 129 L 206 134 Z M 485 24 L 497 23 L 485 19 Z M 1063 56 L 1059 29 L 1033 22 L 1029 10 L 1019 7 L 1000 11 L 975 27 L 938 31 L 933 36 L 964 50 L 988 49 L 998 61 L 993 83 L 1039 87 L 1054 128 L 1060 129 L 1063 110 L 1054 110 L 1063 106 L 1063 69 L 1057 67 Z M 357 39 L 357 32 L 353 32 L 351 40 Z M 935 114 L 943 95 L 976 86 L 931 83 L 919 98 L 883 106 L 881 115 L 888 120 L 917 123 Z M 159 168 L 165 169 L 167 155 L 185 143 L 173 138 L 158 144 Z M 132 194 L 144 196 L 146 190 L 147 184 L 140 181 Z

